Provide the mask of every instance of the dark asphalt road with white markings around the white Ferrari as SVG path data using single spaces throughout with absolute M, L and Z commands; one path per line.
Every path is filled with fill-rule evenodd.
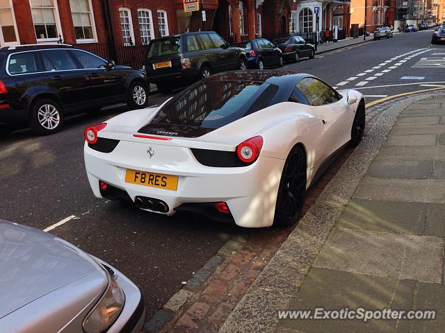
M 445 86 L 445 46 L 431 47 L 431 34 L 398 34 L 390 40 L 366 42 L 285 67 L 314 74 L 338 89 L 359 89 L 367 101 L 381 98 L 376 95 L 435 87 L 425 84 Z M 400 55 L 404 56 L 391 60 Z M 421 58 L 437 60 L 419 64 Z M 393 66 L 398 62 L 400 65 Z M 413 67 L 416 64 L 422 67 Z M 389 67 L 395 68 L 382 72 Z M 376 73 L 383 74 L 374 76 Z M 374 78 L 367 80 L 369 83 L 357 85 L 370 77 Z M 167 98 L 154 94 L 150 104 Z M 29 130 L 1 137 L 0 219 L 43 230 L 75 216 L 51 232 L 106 260 L 136 282 L 145 295 L 149 317 L 225 244 L 229 234 L 249 235 L 251 231 L 186 214 L 157 216 L 96 199 L 83 165 L 83 128 L 124 110 L 119 106 L 68 118 L 62 132 L 48 137 L 34 137 Z

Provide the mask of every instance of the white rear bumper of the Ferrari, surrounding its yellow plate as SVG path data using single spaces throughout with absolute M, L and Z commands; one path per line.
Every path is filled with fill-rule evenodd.
M 175 147 L 175 157 L 168 164 L 156 164 L 149 162 L 146 156 L 147 144 L 120 144 L 122 146 L 118 145 L 113 153 L 99 153 L 85 146 L 88 180 L 98 198 L 102 198 L 99 189 L 99 180 L 102 180 L 125 191 L 133 201 L 136 196 L 163 200 L 168 212 L 158 214 L 175 214 L 176 208 L 185 204 L 224 201 L 237 225 L 260 228 L 273 224 L 284 160 L 260 156 L 257 162 L 246 167 L 205 167 L 195 160 L 189 148 Z M 172 155 L 168 146 L 150 146 L 159 154 L 166 151 Z M 141 159 L 129 158 L 129 151 L 131 156 L 141 156 Z M 125 182 L 127 169 L 178 176 L 177 191 Z

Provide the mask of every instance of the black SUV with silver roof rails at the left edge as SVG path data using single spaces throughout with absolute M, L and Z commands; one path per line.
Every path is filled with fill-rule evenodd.
M 0 49 L 0 124 L 55 133 L 65 114 L 102 105 L 147 105 L 143 71 L 115 65 L 70 45 L 22 45 Z M 2 129 L 3 131 L 5 129 Z

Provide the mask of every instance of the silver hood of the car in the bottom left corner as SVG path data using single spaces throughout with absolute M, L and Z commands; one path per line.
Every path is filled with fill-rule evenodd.
M 104 288 L 104 270 L 83 251 L 46 232 L 0 220 L 0 318 L 92 273 L 102 275 Z

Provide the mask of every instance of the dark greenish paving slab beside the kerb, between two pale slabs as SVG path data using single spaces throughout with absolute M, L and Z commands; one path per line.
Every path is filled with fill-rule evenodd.
M 350 200 L 338 227 L 423 234 L 428 204 L 402 201 Z

